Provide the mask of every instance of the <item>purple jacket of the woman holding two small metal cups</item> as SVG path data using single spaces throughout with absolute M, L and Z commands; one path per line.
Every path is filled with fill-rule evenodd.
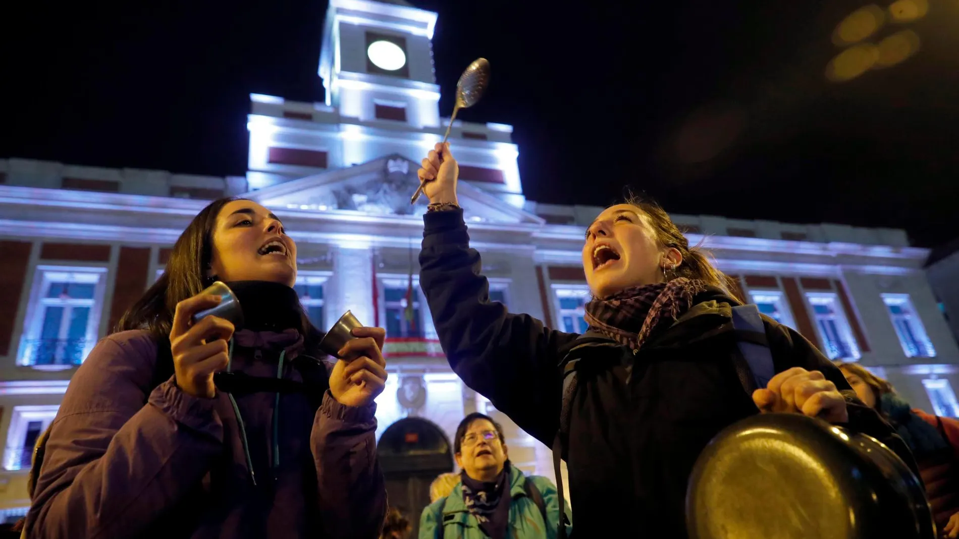
M 301 380 L 302 341 L 277 337 L 238 333 L 252 348 L 233 350 L 232 369 L 276 376 L 285 347 L 283 375 Z M 386 486 L 375 403 L 344 406 L 327 392 L 316 410 L 308 395 L 282 393 L 274 456 L 276 393 L 238 396 L 241 423 L 222 392 L 197 398 L 171 379 L 148 398 L 155 363 L 146 331 L 110 335 L 83 362 L 47 442 L 31 539 L 379 537 Z

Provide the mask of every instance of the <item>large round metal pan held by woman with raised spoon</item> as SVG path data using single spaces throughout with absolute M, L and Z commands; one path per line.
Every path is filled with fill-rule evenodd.
M 690 539 L 934 539 L 923 483 L 876 438 L 822 419 L 753 415 L 700 454 Z

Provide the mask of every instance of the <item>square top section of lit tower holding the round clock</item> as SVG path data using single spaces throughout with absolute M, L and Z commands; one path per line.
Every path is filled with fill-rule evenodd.
M 436 13 L 403 0 L 331 0 L 319 57 L 326 104 L 360 122 L 438 126 L 435 25 Z

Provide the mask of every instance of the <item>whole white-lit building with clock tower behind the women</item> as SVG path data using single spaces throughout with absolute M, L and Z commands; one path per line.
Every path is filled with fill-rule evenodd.
M 433 76 L 435 22 L 435 13 L 398 0 L 332 0 L 319 63 L 327 100 L 251 95 L 246 177 L 0 160 L 0 518 L 29 504 L 31 449 L 72 373 L 160 275 L 190 219 L 224 195 L 281 216 L 316 326 L 351 309 L 386 327 L 390 376 L 377 399 L 377 435 L 392 500 L 422 506 L 417 496 L 433 475 L 453 469 L 456 424 L 473 411 L 503 422 L 515 464 L 553 476 L 549 448 L 450 370 L 417 284 L 426 204 L 410 206 L 409 195 L 447 122 Z M 491 297 L 579 331 L 588 299 L 583 230 L 601 208 L 526 200 L 510 133 L 456 122 L 451 135 Z M 928 253 L 902 231 L 673 217 L 763 312 L 830 358 L 875 369 L 914 406 L 959 415 L 959 348 L 924 276 Z M 435 458 L 404 460 L 417 451 Z

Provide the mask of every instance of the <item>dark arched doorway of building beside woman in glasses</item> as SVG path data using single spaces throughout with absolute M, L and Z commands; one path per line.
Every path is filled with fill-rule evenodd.
M 389 505 L 413 525 L 409 537 L 419 534 L 419 519 L 430 505 L 430 483 L 453 471 L 453 450 L 442 429 L 421 417 L 406 417 L 386 427 L 377 444 L 386 479 Z

